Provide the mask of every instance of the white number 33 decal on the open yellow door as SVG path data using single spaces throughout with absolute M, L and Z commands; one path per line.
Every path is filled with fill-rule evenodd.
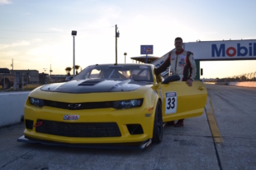
M 176 113 L 176 111 L 177 111 L 176 92 L 165 93 L 165 114 Z

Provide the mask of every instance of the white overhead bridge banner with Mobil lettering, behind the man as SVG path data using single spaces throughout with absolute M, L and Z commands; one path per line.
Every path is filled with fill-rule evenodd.
M 183 48 L 194 53 L 198 60 L 256 59 L 256 39 L 200 41 L 184 43 Z

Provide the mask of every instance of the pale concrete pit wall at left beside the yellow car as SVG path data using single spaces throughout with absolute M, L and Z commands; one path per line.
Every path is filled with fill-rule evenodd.
M 0 93 L 0 126 L 21 122 L 30 91 Z

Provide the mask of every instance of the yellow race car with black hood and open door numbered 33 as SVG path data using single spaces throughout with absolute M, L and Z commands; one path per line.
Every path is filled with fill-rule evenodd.
M 179 79 L 161 82 L 151 64 L 87 67 L 69 82 L 31 91 L 18 141 L 128 149 L 160 143 L 164 122 L 204 112 L 205 85 Z

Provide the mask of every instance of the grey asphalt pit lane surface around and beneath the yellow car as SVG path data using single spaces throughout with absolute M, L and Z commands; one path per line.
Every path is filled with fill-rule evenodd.
M 0 169 L 256 169 L 256 89 L 206 85 L 223 143 L 206 113 L 164 127 L 145 150 L 78 149 L 17 142 L 24 123 L 0 128 Z

